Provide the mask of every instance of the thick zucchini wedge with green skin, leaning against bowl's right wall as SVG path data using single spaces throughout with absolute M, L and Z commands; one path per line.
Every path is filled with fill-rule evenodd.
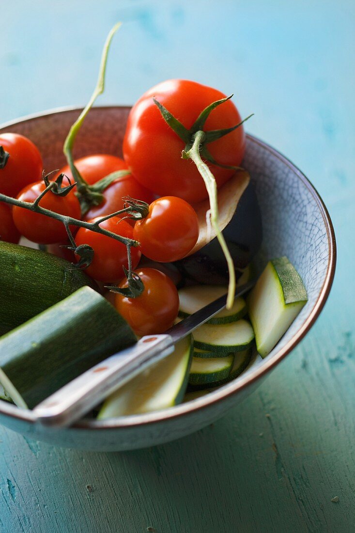
M 286 256 L 269 261 L 248 296 L 256 349 L 265 357 L 307 301 L 300 274 Z

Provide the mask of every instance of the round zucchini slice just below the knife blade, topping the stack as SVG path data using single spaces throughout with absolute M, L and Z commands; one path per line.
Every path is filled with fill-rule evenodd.
M 193 332 L 193 345 L 200 350 L 223 354 L 246 350 L 254 340 L 251 324 L 244 319 L 231 324 L 203 324 Z

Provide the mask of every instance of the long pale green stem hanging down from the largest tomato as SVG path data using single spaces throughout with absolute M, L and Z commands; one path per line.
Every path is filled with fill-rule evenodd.
M 217 240 L 220 243 L 225 260 L 227 261 L 227 265 L 228 265 L 229 284 L 228 284 L 228 295 L 227 295 L 226 308 L 231 309 L 233 302 L 234 302 L 234 298 L 235 298 L 235 292 L 236 292 L 236 273 L 234 269 L 232 256 L 230 255 L 227 243 L 225 242 L 224 237 L 219 227 L 216 180 L 215 180 L 214 175 L 212 174 L 212 172 L 210 171 L 210 169 L 208 168 L 206 163 L 204 163 L 204 161 L 201 159 L 201 156 L 200 156 L 200 145 L 201 143 L 203 143 L 205 136 L 206 136 L 205 132 L 198 131 L 195 134 L 195 139 L 193 141 L 192 147 L 190 148 L 190 150 L 185 152 L 184 155 L 188 156 L 190 159 L 192 159 L 193 163 L 195 163 L 206 185 L 206 189 L 208 192 L 208 198 L 209 198 L 210 212 L 211 212 L 211 225 L 216 232 Z

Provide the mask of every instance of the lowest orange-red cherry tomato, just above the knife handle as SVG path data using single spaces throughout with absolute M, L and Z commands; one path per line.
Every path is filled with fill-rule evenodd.
M 163 333 L 178 316 L 178 290 L 172 280 L 159 270 L 142 268 L 136 273 L 143 281 L 143 293 L 137 298 L 115 294 L 115 307 L 136 335 Z M 126 286 L 126 279 L 119 284 L 121 288 Z

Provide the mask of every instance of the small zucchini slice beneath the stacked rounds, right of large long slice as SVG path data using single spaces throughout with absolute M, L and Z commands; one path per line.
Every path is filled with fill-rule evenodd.
M 193 357 L 189 384 L 208 386 L 221 381 L 221 379 L 228 378 L 233 366 L 234 357 L 234 353 L 231 353 L 227 357 L 208 359 Z

